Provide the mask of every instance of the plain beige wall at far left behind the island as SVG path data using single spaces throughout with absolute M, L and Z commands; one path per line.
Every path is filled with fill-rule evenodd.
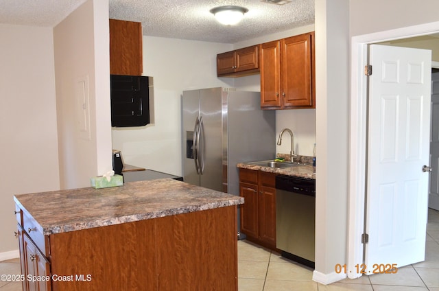
M 0 41 L 1 261 L 18 256 L 13 195 L 60 185 L 52 29 L 0 24 Z

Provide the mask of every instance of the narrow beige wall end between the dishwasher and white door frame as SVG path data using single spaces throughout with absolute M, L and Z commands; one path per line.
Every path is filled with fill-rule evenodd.
M 346 262 L 349 146 L 349 3 L 316 0 L 316 270 L 336 281 Z

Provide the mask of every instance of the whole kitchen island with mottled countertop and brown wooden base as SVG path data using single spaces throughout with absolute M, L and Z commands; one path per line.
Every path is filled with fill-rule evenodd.
M 14 201 L 23 290 L 237 290 L 239 196 L 158 179 Z

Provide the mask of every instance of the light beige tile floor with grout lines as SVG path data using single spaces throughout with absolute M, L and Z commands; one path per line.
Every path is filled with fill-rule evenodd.
M 330 285 L 312 281 L 313 270 L 251 242 L 238 242 L 239 291 L 439 291 L 439 211 L 429 209 L 425 261 L 396 274 L 344 279 Z M 19 259 L 0 262 L 0 275 L 20 274 Z M 0 281 L 0 291 L 21 290 L 19 282 Z

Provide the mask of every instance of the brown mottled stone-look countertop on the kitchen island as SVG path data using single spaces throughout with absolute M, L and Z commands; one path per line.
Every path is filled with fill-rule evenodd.
M 44 235 L 244 203 L 244 198 L 171 178 L 14 196 Z

